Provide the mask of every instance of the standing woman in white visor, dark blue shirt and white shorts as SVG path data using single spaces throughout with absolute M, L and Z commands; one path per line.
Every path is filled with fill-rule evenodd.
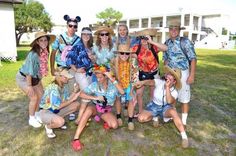
M 92 67 L 92 61 L 90 60 L 90 58 L 93 57 L 93 36 L 92 30 L 89 27 L 82 28 L 81 39 L 81 42 L 78 42 L 69 51 L 66 64 L 74 72 L 75 81 L 79 85 L 80 90 L 83 90 L 92 82 L 91 73 L 88 73 L 89 69 Z M 79 123 L 79 120 L 88 102 L 90 102 L 90 100 L 81 99 L 81 106 L 76 123 Z

